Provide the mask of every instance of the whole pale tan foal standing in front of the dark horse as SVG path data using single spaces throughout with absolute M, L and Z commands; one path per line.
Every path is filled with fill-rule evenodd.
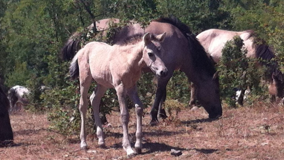
M 125 97 L 128 95 L 135 104 L 137 115 L 137 130 L 135 150 L 141 152 L 142 148 L 142 103 L 137 94 L 136 82 L 141 77 L 143 67 L 149 67 L 159 77 L 167 76 L 167 68 L 160 55 L 164 54 L 161 42 L 166 33 L 152 35 L 149 33 L 132 36 L 127 41 L 110 46 L 103 42 L 90 42 L 85 45 L 73 58 L 70 65 L 70 76 L 80 80 L 80 115 L 81 115 L 81 149 L 87 149 L 85 133 L 85 114 L 87 111 L 87 95 L 94 79 L 97 87 L 90 96 L 98 144 L 105 146 L 103 128 L 99 116 L 101 97 L 108 88 L 114 87 L 120 105 L 120 116 L 123 128 L 122 146 L 128 156 L 135 152 L 130 146 L 128 134 L 129 113 Z M 143 36 L 143 37 L 142 37 Z

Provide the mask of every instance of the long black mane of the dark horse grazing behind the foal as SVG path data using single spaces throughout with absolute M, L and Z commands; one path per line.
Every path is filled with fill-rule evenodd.
M 157 20 L 153 20 L 155 22 L 161 23 L 169 23 L 177 27 L 183 35 L 188 39 L 190 53 L 193 58 L 193 67 L 196 71 L 205 71 L 209 76 L 213 76 L 216 72 L 216 69 L 212 63 L 212 60 L 207 56 L 203 46 L 196 39 L 196 36 L 193 35 L 190 28 L 182 23 L 178 18 L 174 16 L 170 17 L 161 17 Z

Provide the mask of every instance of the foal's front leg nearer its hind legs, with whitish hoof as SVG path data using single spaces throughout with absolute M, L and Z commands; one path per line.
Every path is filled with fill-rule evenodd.
M 115 90 L 117 92 L 118 102 L 120 105 L 120 118 L 122 122 L 122 129 L 123 129 L 123 140 L 122 140 L 122 146 L 123 149 L 126 151 L 128 156 L 131 156 L 135 154 L 135 152 L 132 150 L 129 140 L 129 134 L 128 134 L 128 122 L 129 122 L 129 113 L 125 101 L 126 92 L 124 89 L 123 84 L 119 84 L 115 87 Z

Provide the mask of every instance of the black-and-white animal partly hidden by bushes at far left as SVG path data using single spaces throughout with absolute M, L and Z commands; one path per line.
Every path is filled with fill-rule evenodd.
M 10 101 L 9 113 L 22 109 L 22 106 L 27 105 L 29 100 L 27 96 L 30 91 L 26 87 L 14 86 L 8 91 L 8 98 Z

